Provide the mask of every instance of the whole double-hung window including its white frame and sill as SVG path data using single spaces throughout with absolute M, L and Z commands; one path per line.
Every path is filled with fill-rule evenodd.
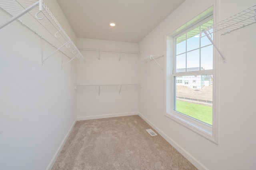
M 212 43 L 203 33 L 200 37 L 200 30 L 213 24 L 213 15 L 200 17 L 167 36 L 165 115 L 217 143 L 217 67 Z

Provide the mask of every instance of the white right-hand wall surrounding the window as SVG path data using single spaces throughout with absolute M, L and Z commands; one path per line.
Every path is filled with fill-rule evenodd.
M 186 0 L 139 43 L 139 49 L 145 55 L 164 54 L 165 35 L 203 12 L 214 2 Z M 255 0 L 220 0 L 217 5 L 217 15 L 223 20 L 255 5 Z M 139 69 L 139 84 L 142 85 L 139 91 L 140 115 L 199 169 L 254 169 L 255 30 L 256 24 L 253 24 L 220 37 L 219 47 L 226 56 L 226 63 L 223 64 L 221 59 L 219 61 L 219 144 L 165 117 L 164 73 L 160 73 L 154 64 L 150 73 L 145 74 Z M 161 65 L 165 64 L 164 59 L 158 61 Z

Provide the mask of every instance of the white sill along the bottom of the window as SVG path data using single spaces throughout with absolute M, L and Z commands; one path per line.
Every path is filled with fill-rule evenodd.
M 208 125 L 208 124 L 198 121 L 196 119 L 192 119 L 191 117 L 189 117 L 187 115 L 183 115 L 176 111 L 173 111 L 170 113 L 165 113 L 164 115 L 166 117 L 176 121 L 177 123 L 180 123 L 184 127 L 187 127 L 190 130 L 193 130 L 194 132 L 200 134 L 201 136 L 204 136 L 205 138 L 218 144 L 218 142 L 214 138 L 213 127 L 211 125 Z

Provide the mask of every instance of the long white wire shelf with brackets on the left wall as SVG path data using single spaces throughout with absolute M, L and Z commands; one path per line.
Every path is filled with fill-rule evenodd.
M 24 24 L 42 39 L 56 47 L 52 54 L 42 59 L 42 64 L 57 51 L 62 52 L 70 59 L 62 65 L 62 68 L 75 58 L 81 62 L 84 61 L 84 57 L 76 45 L 74 45 L 42 0 L 0 0 L 0 8 L 12 16 L 6 22 L 0 24 L 0 29 L 14 20 L 18 20 L 22 25 Z

